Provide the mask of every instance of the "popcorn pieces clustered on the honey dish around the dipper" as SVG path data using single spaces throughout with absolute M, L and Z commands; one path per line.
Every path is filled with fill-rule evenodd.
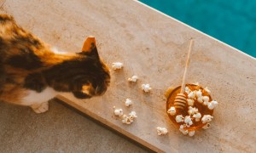
M 204 88 L 204 90 L 210 94 L 211 91 L 208 88 Z M 190 127 L 195 122 L 201 122 L 205 124 L 204 129 L 207 129 L 210 127 L 210 123 L 212 122 L 213 116 L 211 115 L 204 115 L 201 116 L 201 112 L 198 111 L 196 107 L 194 107 L 195 102 L 200 103 L 201 105 L 205 105 L 207 109 L 213 110 L 217 105 L 218 102 L 215 100 L 212 100 L 209 102 L 208 96 L 203 96 L 201 89 L 191 91 L 188 87 L 185 88 L 185 92 L 188 94 L 188 114 L 189 116 L 183 116 L 183 115 L 177 115 L 176 116 L 176 109 L 175 107 L 171 107 L 167 113 L 169 113 L 171 116 L 175 116 L 175 120 L 177 123 L 182 123 L 179 127 L 179 131 L 183 133 L 184 135 L 189 134 L 189 136 L 193 136 L 195 134 L 195 131 L 189 131 L 185 130 L 184 127 Z

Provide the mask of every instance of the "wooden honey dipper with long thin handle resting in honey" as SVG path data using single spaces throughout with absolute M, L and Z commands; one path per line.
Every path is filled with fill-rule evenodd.
M 188 58 L 187 58 L 186 66 L 185 66 L 184 75 L 183 75 L 182 87 L 181 87 L 180 93 L 177 94 L 176 98 L 174 99 L 174 107 L 176 109 L 183 110 L 184 107 L 187 105 L 187 98 L 186 98 L 186 95 L 184 94 L 184 91 L 185 91 L 185 86 L 186 86 L 187 71 L 188 71 L 188 68 L 189 68 L 190 53 L 191 53 L 193 43 L 194 43 L 194 40 L 191 39 L 190 40 L 190 45 L 189 45 L 189 54 L 188 54 Z

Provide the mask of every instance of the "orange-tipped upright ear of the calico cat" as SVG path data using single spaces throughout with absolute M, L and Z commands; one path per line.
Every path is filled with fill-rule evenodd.
M 99 58 L 98 50 L 96 48 L 96 40 L 95 37 L 87 37 L 84 41 L 84 46 L 82 48 L 82 54 L 96 56 Z

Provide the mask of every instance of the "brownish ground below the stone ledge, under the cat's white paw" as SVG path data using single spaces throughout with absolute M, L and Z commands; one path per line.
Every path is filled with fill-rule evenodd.
M 0 152 L 146 152 L 55 101 L 50 110 L 0 102 Z

